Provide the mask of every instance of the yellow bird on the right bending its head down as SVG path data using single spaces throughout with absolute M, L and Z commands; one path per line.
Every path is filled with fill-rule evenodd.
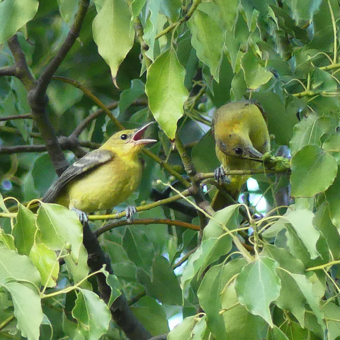
M 248 175 L 225 177 L 230 170 L 249 170 L 261 166 L 270 151 L 270 139 L 263 109 L 256 101 L 237 101 L 221 106 L 212 119 L 216 156 L 222 166 L 215 171 L 216 180 L 237 200 Z

